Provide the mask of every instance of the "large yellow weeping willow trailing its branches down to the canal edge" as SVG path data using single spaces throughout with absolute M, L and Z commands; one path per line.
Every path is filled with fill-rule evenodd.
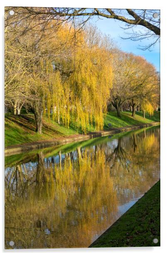
M 43 59 L 39 81 L 33 77 L 34 83 L 39 84 L 35 88 L 40 87 L 36 94 L 41 91 L 34 108 L 39 133 L 43 113 L 58 123 L 61 118 L 67 128 L 74 122 L 83 133 L 89 130 L 90 123 L 97 130 L 103 129 L 112 86 L 112 57 L 105 48 L 97 45 L 89 48 L 84 33 L 80 37 L 81 41 L 66 59 L 52 58 L 52 62 Z

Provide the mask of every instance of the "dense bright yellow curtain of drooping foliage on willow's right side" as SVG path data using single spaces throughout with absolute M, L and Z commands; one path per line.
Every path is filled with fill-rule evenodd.
M 74 55 L 69 83 L 77 127 L 88 130 L 89 121 L 103 129 L 103 114 L 113 82 L 111 56 L 105 49 L 81 48 Z

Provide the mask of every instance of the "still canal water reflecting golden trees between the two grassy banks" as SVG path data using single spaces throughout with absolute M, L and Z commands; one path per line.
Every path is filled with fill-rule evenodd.
M 88 247 L 159 179 L 160 127 L 8 156 L 5 247 Z

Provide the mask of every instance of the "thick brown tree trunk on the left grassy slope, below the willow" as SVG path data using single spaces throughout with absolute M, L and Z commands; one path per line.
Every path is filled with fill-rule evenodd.
M 42 103 L 36 102 L 33 106 L 35 121 L 36 121 L 36 132 L 42 134 L 42 114 L 43 114 L 43 108 Z

